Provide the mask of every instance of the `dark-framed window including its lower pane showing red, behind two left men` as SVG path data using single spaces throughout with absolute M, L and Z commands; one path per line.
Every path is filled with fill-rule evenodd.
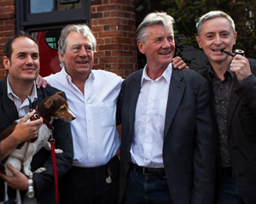
M 19 0 L 15 1 L 16 30 L 29 32 L 38 40 L 40 75 L 61 70 L 58 41 L 63 26 L 86 23 L 90 26 L 88 0 Z

